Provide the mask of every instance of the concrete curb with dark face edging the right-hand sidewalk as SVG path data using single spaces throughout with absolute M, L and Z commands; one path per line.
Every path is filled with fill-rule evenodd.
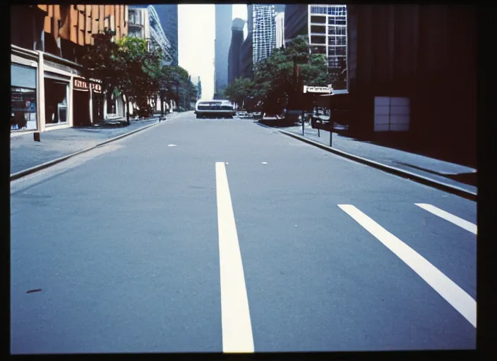
M 265 125 L 263 125 L 265 126 Z M 275 129 L 266 126 L 267 128 L 270 129 Z M 463 188 L 457 187 L 456 185 L 450 185 L 447 183 L 439 182 L 439 181 L 434 181 L 433 179 L 426 178 L 424 176 L 420 176 L 419 174 L 411 173 L 409 171 L 405 171 L 403 169 L 398 169 L 393 166 L 387 166 L 385 164 L 378 163 L 377 161 L 372 161 L 370 159 L 366 159 L 363 157 L 359 157 L 354 154 L 350 154 L 347 152 L 344 152 L 339 149 L 334 149 L 332 147 L 329 147 L 328 145 L 323 145 L 319 142 L 315 142 L 314 140 L 307 139 L 305 137 L 302 137 L 301 135 L 297 135 L 294 133 L 287 132 L 286 130 L 280 130 L 280 129 L 275 129 L 278 132 L 288 135 L 289 137 L 294 137 L 295 139 L 301 140 L 302 142 L 306 142 L 310 145 L 314 145 L 316 147 L 319 147 L 321 149 L 327 150 L 328 152 L 335 153 L 337 155 L 340 155 L 342 157 L 345 157 L 347 159 L 351 159 L 353 161 L 358 161 L 359 163 L 366 164 L 366 166 L 373 166 L 376 169 L 380 169 L 381 171 L 385 171 L 388 173 L 395 174 L 396 176 L 401 176 L 402 178 L 408 178 L 411 181 L 415 181 L 417 183 L 422 183 L 424 185 L 429 185 L 430 187 L 437 188 L 439 190 L 443 190 L 445 192 L 451 193 L 453 195 L 458 195 L 460 197 L 466 198 L 467 200 L 472 200 L 474 202 L 477 201 L 477 193 L 471 192 L 469 190 L 465 190 Z

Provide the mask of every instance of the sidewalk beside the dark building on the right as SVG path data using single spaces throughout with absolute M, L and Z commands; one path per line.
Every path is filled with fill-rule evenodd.
M 294 135 L 302 136 L 302 126 L 292 126 L 286 128 L 276 128 L 284 130 Z M 330 146 L 330 132 L 319 131 L 305 125 L 304 137 L 314 142 Z M 332 148 L 362 157 L 371 161 L 376 161 L 386 166 L 394 167 L 402 171 L 408 171 L 436 182 L 453 185 L 469 192 L 477 193 L 477 170 L 459 164 L 449 163 L 419 154 L 404 152 L 402 150 L 382 147 L 361 140 L 344 137 L 333 133 Z

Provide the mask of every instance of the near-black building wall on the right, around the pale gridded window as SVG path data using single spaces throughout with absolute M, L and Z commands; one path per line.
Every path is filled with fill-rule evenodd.
M 465 145 L 476 159 L 474 8 L 350 5 L 348 16 L 354 133 L 373 137 L 374 97 L 409 97 L 410 139 L 454 152 Z

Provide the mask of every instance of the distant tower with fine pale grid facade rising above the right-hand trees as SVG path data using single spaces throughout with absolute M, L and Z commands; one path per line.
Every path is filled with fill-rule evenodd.
M 276 45 L 275 6 L 253 4 L 252 6 L 252 62 L 270 56 Z

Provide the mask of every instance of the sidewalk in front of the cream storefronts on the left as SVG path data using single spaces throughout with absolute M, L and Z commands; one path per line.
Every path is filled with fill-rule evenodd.
M 167 114 L 165 120 L 168 121 L 178 115 L 179 113 Z M 126 118 L 117 118 L 88 127 L 49 130 L 40 133 L 40 142 L 33 140 L 32 133 L 12 134 L 11 174 L 95 147 L 105 140 L 131 133 L 158 121 L 158 116 L 143 120 L 130 119 L 130 125 L 126 126 Z

